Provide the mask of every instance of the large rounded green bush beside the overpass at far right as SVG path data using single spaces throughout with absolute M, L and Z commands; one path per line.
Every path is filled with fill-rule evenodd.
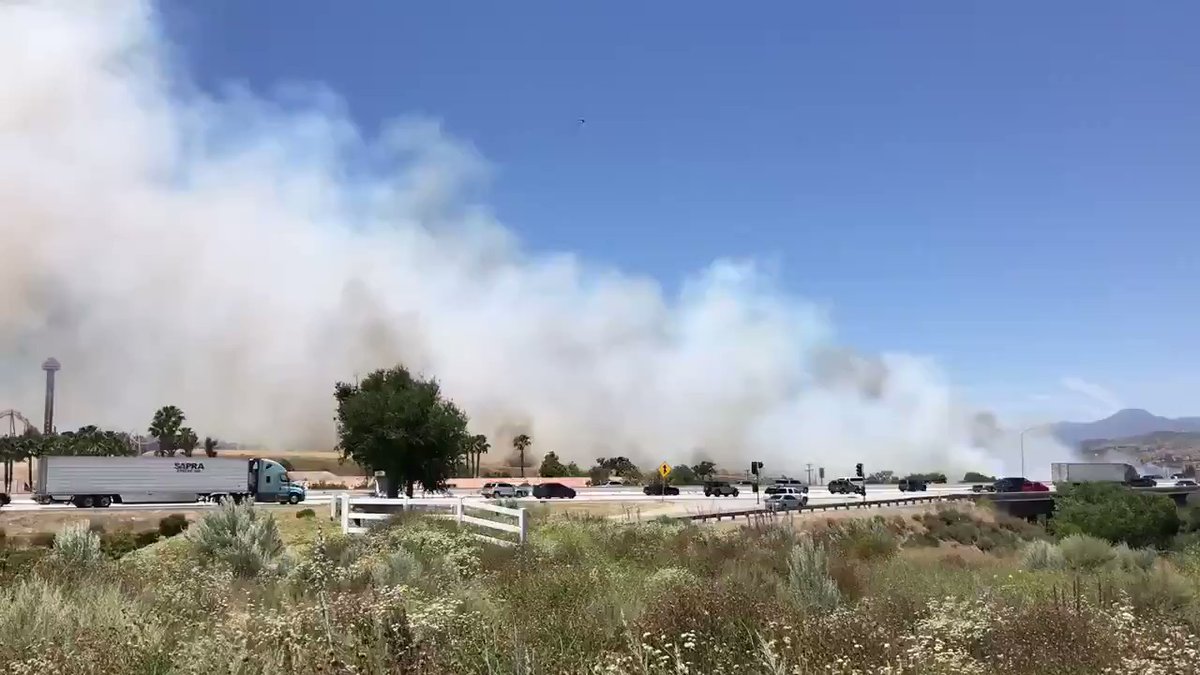
M 1180 514 L 1166 495 L 1135 492 L 1110 483 L 1064 485 L 1050 520 L 1055 534 L 1091 534 L 1133 548 L 1166 546 L 1180 531 Z

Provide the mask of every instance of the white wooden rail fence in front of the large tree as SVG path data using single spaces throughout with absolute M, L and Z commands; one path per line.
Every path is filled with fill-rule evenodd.
M 355 507 L 380 507 L 383 510 L 379 512 L 359 510 L 355 509 Z M 400 508 L 397 509 L 396 507 Z M 526 509 L 506 508 L 486 502 L 467 501 L 462 497 L 451 500 L 444 497 L 440 498 L 401 497 L 396 500 L 389 500 L 384 497 L 358 497 L 348 492 L 343 492 L 341 495 L 336 495 L 332 500 L 330 500 L 329 518 L 330 520 L 341 521 L 342 532 L 346 532 L 348 534 L 361 534 L 367 531 L 366 525 L 370 521 L 388 520 L 397 512 L 403 513 L 410 509 L 433 512 L 431 515 L 438 518 L 452 518 L 458 522 L 458 525 L 474 525 L 476 527 L 482 527 L 485 530 L 508 532 L 517 536 L 517 540 L 512 542 L 509 539 L 497 539 L 496 537 L 490 537 L 480 532 L 473 532 L 475 537 L 484 539 L 486 542 L 491 542 L 493 544 L 502 544 L 502 545 L 512 545 L 515 543 L 523 544 L 526 542 L 526 536 L 528 534 L 529 519 L 526 514 Z M 468 512 L 473 509 L 510 516 L 515 520 L 515 522 L 503 522 L 499 520 L 488 520 L 486 518 L 470 515 Z

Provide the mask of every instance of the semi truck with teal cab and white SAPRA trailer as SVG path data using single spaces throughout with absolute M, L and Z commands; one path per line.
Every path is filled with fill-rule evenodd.
M 34 501 L 106 508 L 114 503 L 233 500 L 299 503 L 307 490 L 269 459 L 240 458 L 38 458 Z

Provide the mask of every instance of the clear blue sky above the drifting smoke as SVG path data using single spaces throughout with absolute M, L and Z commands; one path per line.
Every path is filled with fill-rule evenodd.
M 1194 2 L 164 5 L 202 86 L 438 118 L 534 250 L 779 265 L 980 402 L 1200 414 Z M 584 124 L 577 120 L 582 118 Z

